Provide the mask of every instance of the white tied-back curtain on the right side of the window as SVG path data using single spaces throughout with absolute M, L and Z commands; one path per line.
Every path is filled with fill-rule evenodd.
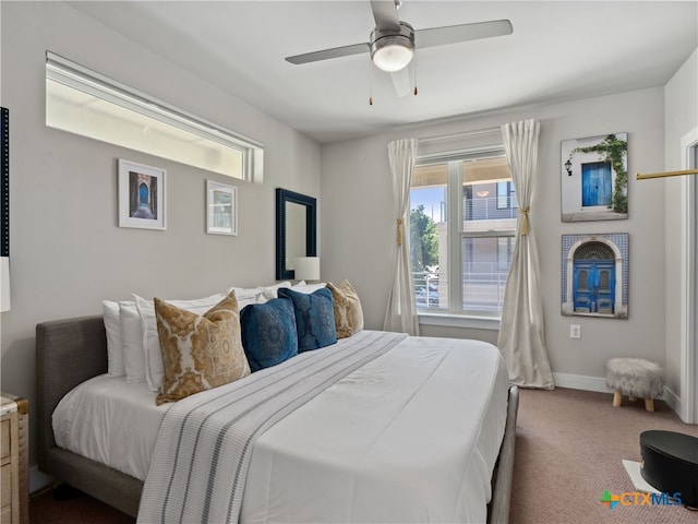
M 519 204 L 519 219 L 504 289 L 497 347 L 504 356 L 513 384 L 552 390 L 555 383 L 545 349 L 538 251 L 528 219 L 537 177 L 539 132 L 540 124 L 534 120 L 502 126 Z

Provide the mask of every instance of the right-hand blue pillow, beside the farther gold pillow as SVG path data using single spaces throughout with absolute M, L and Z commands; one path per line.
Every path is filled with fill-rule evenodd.
M 337 342 L 335 307 L 332 291 L 326 287 L 314 293 L 298 293 L 292 289 L 278 290 L 279 298 L 287 298 L 296 311 L 298 353 L 329 346 Z

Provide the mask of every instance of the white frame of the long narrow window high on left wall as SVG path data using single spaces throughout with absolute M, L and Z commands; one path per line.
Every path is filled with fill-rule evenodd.
M 129 87 L 51 51 L 46 51 L 46 81 L 47 104 L 49 81 L 60 83 L 72 90 L 85 93 L 100 100 L 115 104 L 121 108 L 132 111 L 134 117 L 143 116 L 148 119 L 155 119 L 167 126 L 171 126 L 179 131 L 191 134 L 193 143 L 204 144 L 205 142 L 213 142 L 215 144 L 219 144 L 219 146 L 237 151 L 242 154 L 241 176 L 218 169 L 215 169 L 216 172 L 251 182 L 262 183 L 263 181 L 264 145 L 261 142 L 243 136 L 239 133 L 234 133 L 222 126 L 186 112 L 183 109 Z M 47 124 L 49 124 L 48 120 Z M 108 126 L 104 126 L 104 128 L 108 129 Z M 70 122 L 67 123 L 67 127 L 59 127 L 58 129 L 84 134 L 76 129 L 71 129 Z M 89 138 L 101 140 L 104 142 L 116 143 L 110 140 L 108 134 L 89 135 Z M 133 147 L 132 145 L 128 145 L 128 147 L 136 148 L 137 146 Z M 141 151 L 169 158 L 167 154 L 158 154 L 153 150 Z M 181 162 L 182 164 L 188 164 L 186 159 L 181 157 L 172 157 L 171 159 Z M 202 168 L 206 169 L 206 167 Z

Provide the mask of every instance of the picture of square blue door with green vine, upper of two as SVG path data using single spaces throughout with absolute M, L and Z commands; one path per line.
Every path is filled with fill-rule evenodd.
M 562 221 L 628 217 L 628 134 L 564 140 L 561 147 Z

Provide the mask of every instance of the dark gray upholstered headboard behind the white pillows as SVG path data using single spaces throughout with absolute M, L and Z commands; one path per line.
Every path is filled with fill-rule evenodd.
M 107 335 L 101 315 L 36 325 L 37 464 L 46 472 L 46 451 L 56 445 L 51 414 L 81 382 L 107 372 Z

